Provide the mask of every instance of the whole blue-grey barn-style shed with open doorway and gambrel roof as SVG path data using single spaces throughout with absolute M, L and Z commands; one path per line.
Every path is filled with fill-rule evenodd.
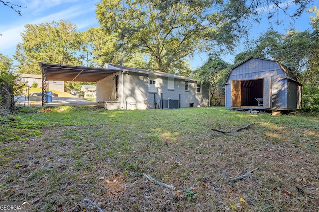
M 275 60 L 250 57 L 233 67 L 225 81 L 225 106 L 242 109 L 295 110 L 302 84 Z

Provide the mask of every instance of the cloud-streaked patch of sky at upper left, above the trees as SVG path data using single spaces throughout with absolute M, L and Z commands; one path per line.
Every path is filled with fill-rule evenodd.
M 97 0 L 25 0 L 17 2 L 18 5 L 26 5 L 27 8 L 23 9 L 25 13 L 22 12 L 22 17 L 16 15 L 12 16 L 14 19 L 0 21 L 0 33 L 3 34 L 0 36 L 0 52 L 10 57 L 14 54 L 16 45 L 22 41 L 20 33 L 25 30 L 26 24 L 49 23 L 66 19 L 75 23 L 79 30 L 96 25 L 96 3 Z M 32 11 L 32 14 L 26 13 L 26 9 Z M 41 14 L 33 16 L 34 12 L 40 11 Z

